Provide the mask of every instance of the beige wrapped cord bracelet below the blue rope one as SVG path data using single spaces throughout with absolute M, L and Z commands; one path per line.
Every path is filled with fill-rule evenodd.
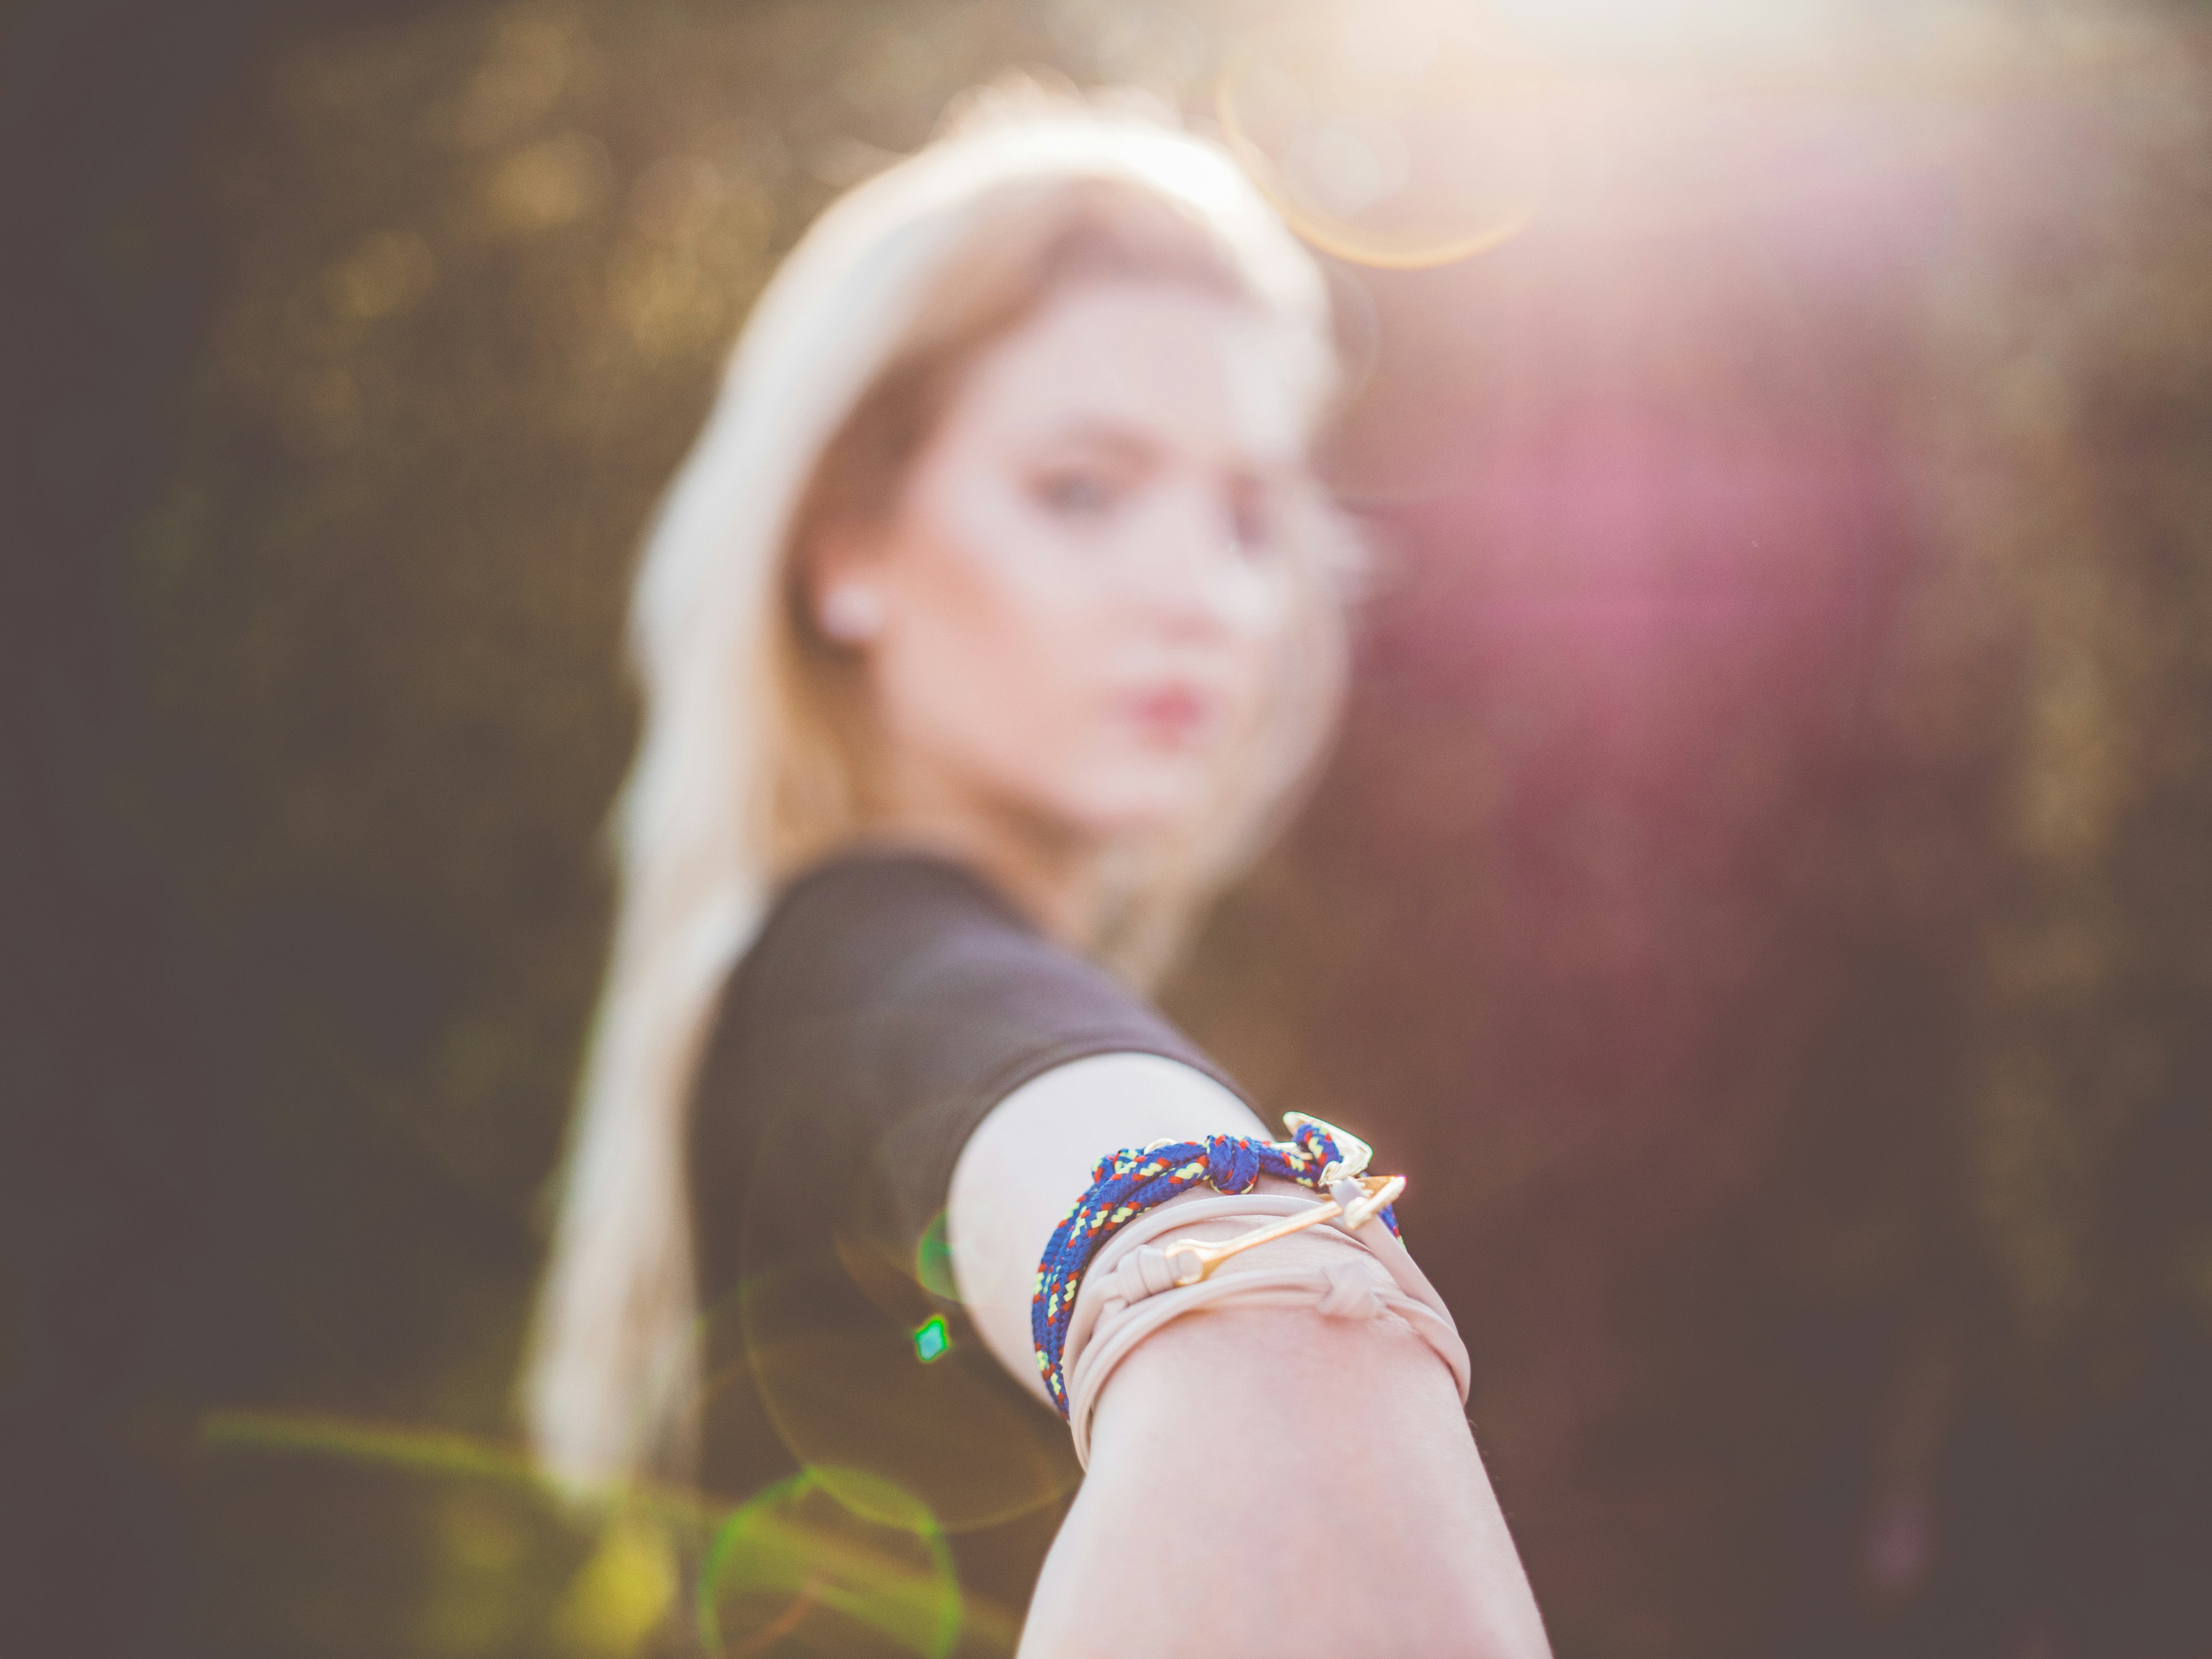
M 1155 1243 L 1166 1234 L 1183 1234 L 1206 1223 L 1305 1217 L 1316 1208 L 1323 1206 L 1312 1199 L 1243 1192 L 1194 1203 L 1166 1203 L 1137 1217 L 1113 1237 L 1084 1272 L 1062 1358 L 1068 1378 L 1068 1429 L 1075 1436 L 1075 1455 L 1086 1469 L 1091 1467 L 1091 1413 L 1097 1409 L 1099 1391 L 1115 1367 L 1168 1321 L 1228 1301 L 1312 1307 L 1327 1318 L 1398 1314 L 1444 1360 L 1460 1389 L 1460 1400 L 1467 1400 L 1471 1367 L 1467 1343 L 1460 1340 L 1460 1332 L 1451 1323 L 1451 1310 L 1444 1307 L 1442 1296 L 1407 1254 L 1405 1243 L 1380 1221 L 1367 1221 L 1358 1230 L 1347 1228 L 1343 1217 L 1316 1223 L 1316 1232 L 1327 1230 L 1329 1237 L 1354 1245 L 1343 1261 L 1325 1265 L 1270 1267 L 1265 1254 L 1241 1256 L 1208 1250 L 1208 1256 L 1225 1254 L 1225 1259 L 1210 1263 L 1210 1276 L 1197 1283 L 1188 1283 L 1188 1254 L 1170 1265 L 1172 1245 L 1181 1239 L 1168 1239 L 1168 1250 Z M 1186 1283 L 1177 1283 L 1177 1270 L 1183 1270 Z

